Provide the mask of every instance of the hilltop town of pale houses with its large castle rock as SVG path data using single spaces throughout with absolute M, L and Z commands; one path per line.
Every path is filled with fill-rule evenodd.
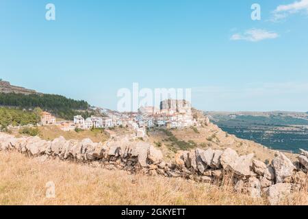
M 185 100 L 166 99 L 160 103 L 159 109 L 157 107 L 140 107 L 138 112 L 120 113 L 101 108 L 94 110 L 99 110 L 104 116 L 84 118 L 81 115 L 76 115 L 73 121 L 56 123 L 55 116 L 43 112 L 41 121 L 43 125 L 59 125 L 63 131 L 125 127 L 136 131 L 140 138 L 144 137 L 146 128 L 181 129 L 200 125 L 192 116 L 190 102 Z

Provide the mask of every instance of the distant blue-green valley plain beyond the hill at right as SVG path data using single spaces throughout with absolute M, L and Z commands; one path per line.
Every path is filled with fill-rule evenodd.
M 281 151 L 308 149 L 305 112 L 205 112 L 211 122 L 238 138 Z

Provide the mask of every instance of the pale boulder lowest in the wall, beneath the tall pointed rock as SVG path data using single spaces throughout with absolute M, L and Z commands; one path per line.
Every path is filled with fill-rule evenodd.
M 279 202 L 291 193 L 292 184 L 290 183 L 277 183 L 271 185 L 268 189 L 268 201 L 270 205 L 278 205 Z

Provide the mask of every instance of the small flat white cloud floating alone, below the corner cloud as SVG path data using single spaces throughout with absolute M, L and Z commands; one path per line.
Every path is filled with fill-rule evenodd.
M 231 40 L 246 40 L 250 42 L 258 42 L 266 39 L 278 38 L 279 35 L 265 29 L 248 29 L 244 34 L 233 34 Z

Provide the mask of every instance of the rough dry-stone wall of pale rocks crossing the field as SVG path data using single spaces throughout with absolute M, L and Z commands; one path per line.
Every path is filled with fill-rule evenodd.
M 255 198 L 267 196 L 272 205 L 291 192 L 307 190 L 307 151 L 302 151 L 296 163 L 279 151 L 272 164 L 265 164 L 254 159 L 253 154 L 240 156 L 232 149 L 179 151 L 174 162 L 164 162 L 161 151 L 136 138 L 116 138 L 102 144 L 90 139 L 77 141 L 60 137 L 46 141 L 38 137 L 15 138 L 0 133 L 0 151 L 13 149 L 43 160 L 58 158 L 86 162 L 111 170 L 183 177 L 216 185 L 229 179 L 235 192 Z

